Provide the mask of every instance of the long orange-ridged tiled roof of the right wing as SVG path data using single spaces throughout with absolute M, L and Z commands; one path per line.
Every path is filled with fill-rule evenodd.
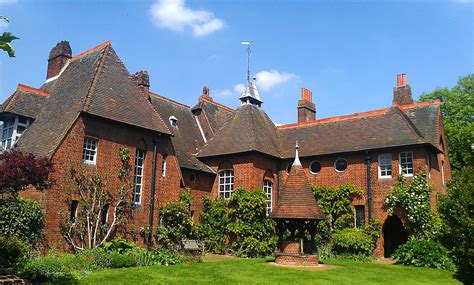
M 278 127 L 283 158 L 293 157 L 295 140 L 306 143 L 301 156 L 431 143 L 437 112 L 431 105 L 389 109 Z M 419 129 L 421 128 L 421 129 Z M 434 145 L 436 147 L 436 145 Z

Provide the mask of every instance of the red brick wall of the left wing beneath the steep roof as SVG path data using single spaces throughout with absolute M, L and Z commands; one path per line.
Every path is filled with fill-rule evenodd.
M 60 233 L 60 224 L 63 217 L 69 217 L 70 195 L 67 194 L 70 180 L 68 178 L 69 165 L 82 164 L 82 148 L 84 136 L 99 139 L 97 146 L 97 164 L 88 166 L 100 171 L 109 172 L 111 179 L 107 187 L 111 190 L 118 189 L 120 182 L 117 177 L 120 168 L 119 149 L 126 147 L 132 155 L 130 163 L 133 166 L 136 148 L 146 149 L 144 164 L 144 185 L 142 189 L 142 205 L 137 206 L 133 213 L 133 222 L 129 225 L 131 233 L 129 238 L 143 244 L 139 231 L 141 227 L 148 225 L 149 201 L 151 189 L 151 172 L 153 159 L 152 139 L 158 142 L 157 167 L 156 167 L 156 192 L 154 225 L 158 224 L 159 208 L 168 201 L 177 201 L 179 198 L 179 169 L 177 161 L 172 152 L 169 137 L 158 137 L 156 133 L 114 123 L 100 118 L 80 117 L 72 126 L 65 139 L 60 144 L 52 161 L 56 171 L 51 175 L 56 184 L 42 195 L 33 194 L 31 191 L 24 196 L 39 199 L 42 203 L 46 219 L 46 243 L 59 249 L 66 249 L 67 245 Z M 162 177 L 161 160 L 162 153 L 167 155 L 166 176 Z M 131 173 L 133 179 L 133 167 Z M 41 197 L 42 196 L 42 197 Z M 112 207 L 109 209 L 109 220 L 112 219 Z

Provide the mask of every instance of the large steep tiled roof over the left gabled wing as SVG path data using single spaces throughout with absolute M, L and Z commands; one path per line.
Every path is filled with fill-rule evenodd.
M 81 113 L 170 134 L 110 42 L 73 57 L 54 84 L 43 87 L 50 95 L 18 141 L 24 151 L 51 157 Z

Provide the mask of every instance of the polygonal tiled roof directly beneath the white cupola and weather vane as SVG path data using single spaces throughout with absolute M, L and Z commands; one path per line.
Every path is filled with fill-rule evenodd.
M 280 157 L 275 125 L 261 108 L 245 104 L 237 108 L 233 118 L 215 133 L 198 157 L 249 151 Z

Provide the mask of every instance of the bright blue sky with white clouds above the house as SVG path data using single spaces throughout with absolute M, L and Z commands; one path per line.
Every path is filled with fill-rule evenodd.
M 39 87 L 60 40 L 78 54 L 106 40 L 151 89 L 194 105 L 208 85 L 214 100 L 238 105 L 246 50 L 263 108 L 296 121 L 300 88 L 313 92 L 317 117 L 390 106 L 396 74 L 414 97 L 452 87 L 473 73 L 473 7 L 441 1 L 32 1 L 0 0 L 10 19 L 0 31 L 21 39 L 0 54 L 0 101 L 18 83 Z

